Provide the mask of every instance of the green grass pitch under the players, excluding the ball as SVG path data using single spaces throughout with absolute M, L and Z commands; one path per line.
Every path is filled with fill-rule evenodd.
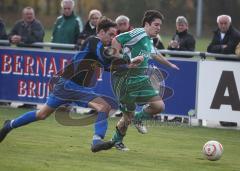
M 25 110 L 0 108 L 0 122 Z M 116 120 L 110 121 L 110 139 Z M 240 170 L 240 133 L 235 130 L 208 129 L 169 124 L 149 125 L 140 135 L 130 127 L 125 143 L 128 152 L 116 149 L 92 153 L 92 125 L 66 127 L 54 116 L 14 130 L 0 144 L 1 171 L 238 171 Z M 219 161 L 203 159 L 201 149 L 208 140 L 223 144 Z

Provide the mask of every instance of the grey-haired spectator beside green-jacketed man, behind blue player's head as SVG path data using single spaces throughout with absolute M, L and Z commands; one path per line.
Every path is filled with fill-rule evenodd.
M 96 35 L 96 26 L 101 17 L 102 13 L 97 9 L 93 9 L 89 12 L 88 21 L 84 26 L 83 31 L 80 33 L 78 44 L 82 45 L 84 40 L 89 36 Z

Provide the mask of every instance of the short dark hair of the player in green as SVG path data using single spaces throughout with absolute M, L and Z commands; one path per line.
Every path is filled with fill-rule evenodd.
M 163 20 L 164 16 L 161 12 L 157 10 L 148 10 L 144 13 L 143 19 L 142 19 L 142 26 L 145 26 L 145 23 L 151 24 L 155 19 Z

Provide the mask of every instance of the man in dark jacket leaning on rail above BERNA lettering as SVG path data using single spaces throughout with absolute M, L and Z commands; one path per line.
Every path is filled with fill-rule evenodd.
M 25 7 L 22 11 L 22 19 L 15 23 L 9 34 L 9 41 L 18 46 L 30 46 L 34 42 L 42 42 L 43 38 L 44 28 L 41 22 L 35 19 L 34 9 Z

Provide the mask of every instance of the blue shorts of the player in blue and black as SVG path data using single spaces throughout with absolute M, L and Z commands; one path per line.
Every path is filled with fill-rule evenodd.
M 57 108 L 67 103 L 75 103 L 78 106 L 88 107 L 90 101 L 101 96 L 94 93 L 93 88 L 83 87 L 73 81 L 61 78 L 54 85 L 46 104 L 51 108 Z

